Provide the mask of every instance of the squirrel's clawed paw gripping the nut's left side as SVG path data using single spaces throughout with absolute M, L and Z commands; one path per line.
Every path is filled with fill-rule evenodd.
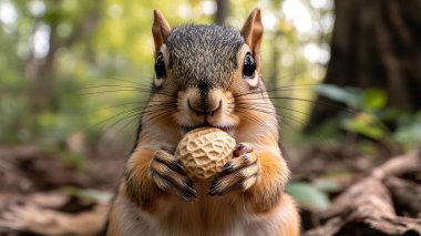
M 168 150 L 155 152 L 151 162 L 150 177 L 162 191 L 174 192 L 185 201 L 196 198 L 193 181 L 186 176 L 184 167 Z

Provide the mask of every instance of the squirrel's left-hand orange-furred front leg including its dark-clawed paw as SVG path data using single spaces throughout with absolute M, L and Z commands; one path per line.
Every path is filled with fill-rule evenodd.
M 127 162 L 125 182 L 129 198 L 143 208 L 172 193 L 185 201 L 196 197 L 193 181 L 168 148 L 136 150 Z

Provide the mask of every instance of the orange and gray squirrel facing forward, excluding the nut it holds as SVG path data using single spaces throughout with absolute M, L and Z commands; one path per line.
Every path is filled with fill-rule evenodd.
M 278 121 L 261 79 L 263 33 L 259 9 L 240 31 L 171 29 L 154 10 L 155 76 L 106 235 L 299 235 L 298 209 L 285 193 L 289 170 Z M 202 126 L 225 131 L 237 145 L 220 173 L 194 183 L 174 148 Z

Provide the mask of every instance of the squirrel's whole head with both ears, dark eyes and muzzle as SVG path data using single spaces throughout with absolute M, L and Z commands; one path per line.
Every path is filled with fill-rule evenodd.
M 263 114 L 247 107 L 268 101 L 260 78 L 263 31 L 259 9 L 250 13 L 240 31 L 194 24 L 172 30 L 155 10 L 151 106 L 172 110 L 165 113 L 166 117 L 173 119 L 170 123 L 182 133 L 215 126 L 233 134 L 247 122 L 261 121 Z M 273 106 L 268 102 L 264 107 L 271 111 Z

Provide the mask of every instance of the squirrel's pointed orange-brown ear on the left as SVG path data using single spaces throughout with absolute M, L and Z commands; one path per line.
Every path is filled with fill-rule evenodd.
M 154 10 L 154 23 L 152 25 L 152 34 L 155 41 L 155 57 L 160 53 L 160 49 L 168 37 L 171 27 L 160 10 Z

